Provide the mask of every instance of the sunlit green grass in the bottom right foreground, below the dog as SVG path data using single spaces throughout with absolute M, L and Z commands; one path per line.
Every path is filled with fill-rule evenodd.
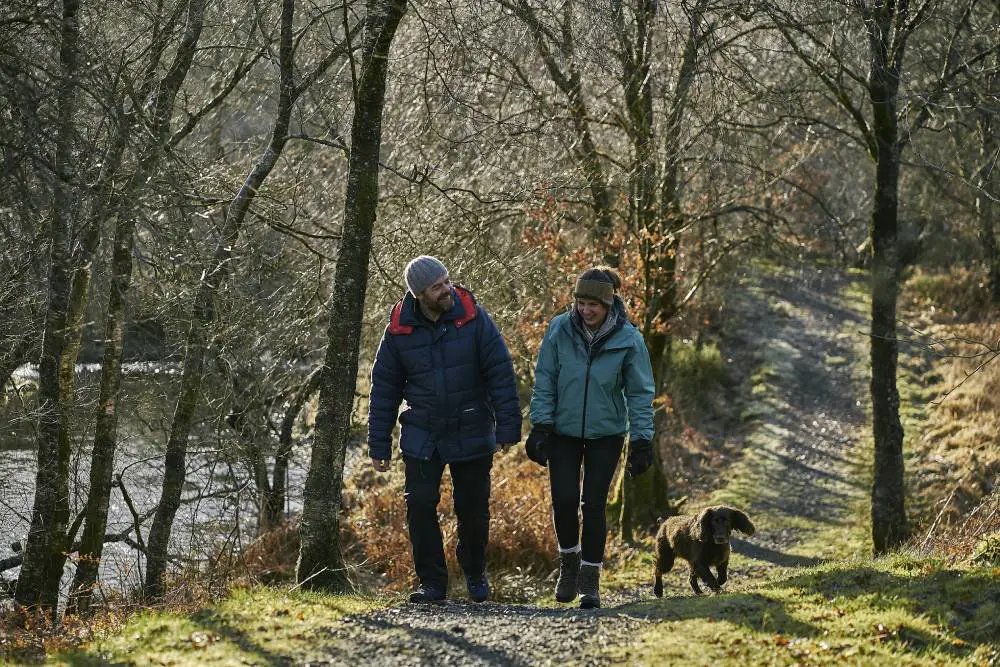
M 633 664 L 991 664 L 1000 659 L 998 572 L 939 560 L 847 560 L 722 595 L 689 594 L 622 608 L 651 623 Z M 688 662 L 687 664 L 691 664 Z

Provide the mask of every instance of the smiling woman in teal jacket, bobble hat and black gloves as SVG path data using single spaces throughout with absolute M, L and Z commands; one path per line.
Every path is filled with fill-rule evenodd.
M 556 600 L 572 602 L 579 594 L 582 609 L 601 606 L 605 509 L 626 433 L 629 473 L 641 474 L 653 462 L 653 369 L 616 295 L 621 284 L 613 269 L 584 271 L 573 306 L 549 324 L 525 443 L 528 457 L 549 467 L 559 541 Z

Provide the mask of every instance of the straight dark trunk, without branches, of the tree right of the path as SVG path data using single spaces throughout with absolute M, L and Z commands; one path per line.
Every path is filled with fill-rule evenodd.
M 881 20 L 880 20 L 881 19 Z M 875 456 L 872 475 L 872 541 L 885 553 L 908 537 L 903 482 L 903 426 L 896 387 L 896 300 L 899 292 L 897 221 L 900 174 L 899 63 L 902 45 L 890 50 L 892 17 L 869 21 L 872 67 L 869 97 L 877 154 L 872 213 L 871 396 Z

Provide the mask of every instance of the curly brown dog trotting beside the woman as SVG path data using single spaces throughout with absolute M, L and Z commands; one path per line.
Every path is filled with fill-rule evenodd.
M 653 593 L 663 597 L 663 573 L 674 566 L 674 557 L 680 556 L 691 566 L 688 582 L 698 595 L 700 578 L 716 593 L 728 578 L 729 533 L 733 529 L 746 535 L 753 535 L 754 527 L 743 512 L 715 505 L 707 507 L 698 516 L 672 516 L 663 522 L 656 534 L 656 570 Z M 712 575 L 709 566 L 714 565 L 719 573 Z

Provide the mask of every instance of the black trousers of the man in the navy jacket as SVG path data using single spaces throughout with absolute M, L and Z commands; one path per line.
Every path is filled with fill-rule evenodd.
M 448 568 L 438 523 L 441 475 L 445 463 L 437 452 L 430 461 L 405 457 L 406 523 L 413 545 L 413 566 L 424 586 L 448 590 Z M 447 464 L 451 469 L 458 545 L 455 554 L 467 576 L 486 571 L 486 542 L 490 531 L 490 470 L 493 455 Z

